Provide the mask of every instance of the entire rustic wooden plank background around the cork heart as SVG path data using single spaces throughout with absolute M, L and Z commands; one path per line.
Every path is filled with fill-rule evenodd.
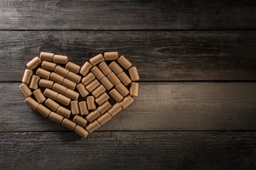
M 41 51 L 118 51 L 139 97 L 83 141 L 24 103 Z M 256 1 L 0 1 L 0 58 L 0 169 L 256 168 Z

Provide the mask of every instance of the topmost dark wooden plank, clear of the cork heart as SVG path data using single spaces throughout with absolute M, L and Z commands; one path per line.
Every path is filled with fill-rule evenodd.
M 255 29 L 255 1 L 0 2 L 0 29 Z

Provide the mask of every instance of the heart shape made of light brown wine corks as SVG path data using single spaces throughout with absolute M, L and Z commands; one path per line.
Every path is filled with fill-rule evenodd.
M 85 138 L 138 95 L 136 67 L 118 52 L 98 54 L 80 67 L 68 56 L 41 52 L 27 63 L 20 90 L 46 118 Z

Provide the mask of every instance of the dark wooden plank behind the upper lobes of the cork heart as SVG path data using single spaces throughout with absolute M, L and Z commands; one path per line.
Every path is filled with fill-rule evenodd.
M 41 51 L 82 65 L 118 51 L 140 80 L 256 80 L 256 31 L 0 31 L 0 81 L 22 80 Z

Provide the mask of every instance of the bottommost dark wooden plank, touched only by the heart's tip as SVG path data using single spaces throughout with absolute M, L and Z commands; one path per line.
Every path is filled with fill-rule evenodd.
M 255 169 L 256 133 L 0 133 L 1 169 Z

